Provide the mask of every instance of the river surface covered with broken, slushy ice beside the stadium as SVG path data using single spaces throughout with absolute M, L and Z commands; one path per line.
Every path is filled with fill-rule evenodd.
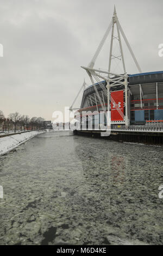
M 47 132 L 0 158 L 1 245 L 163 243 L 161 148 Z

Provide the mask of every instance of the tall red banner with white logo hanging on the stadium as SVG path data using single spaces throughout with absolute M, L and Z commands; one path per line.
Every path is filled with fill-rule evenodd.
M 123 90 L 111 92 L 111 99 L 111 121 L 123 121 Z

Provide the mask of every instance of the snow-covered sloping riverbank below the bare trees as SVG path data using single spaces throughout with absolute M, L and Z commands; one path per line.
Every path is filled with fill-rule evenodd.
M 18 145 L 28 141 L 28 139 L 44 132 L 45 131 L 31 131 L 0 138 L 0 156 L 15 149 Z

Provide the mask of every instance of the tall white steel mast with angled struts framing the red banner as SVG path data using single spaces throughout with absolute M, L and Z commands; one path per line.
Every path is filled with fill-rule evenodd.
M 116 29 L 117 29 L 117 37 L 114 35 L 115 25 L 116 25 Z M 105 70 L 102 70 L 102 69 L 94 69 L 93 66 L 95 65 L 96 59 L 97 59 L 99 53 L 101 52 L 102 47 L 104 45 L 104 42 L 105 42 L 106 38 L 108 38 L 108 35 L 109 35 L 110 31 L 111 31 L 111 41 L 110 41 L 110 54 L 109 54 L 109 68 L 108 68 L 108 71 L 105 71 Z M 99 96 L 99 93 L 98 93 L 98 90 L 96 88 L 96 84 L 95 84 L 93 78 L 95 78 L 95 80 L 98 82 L 99 86 L 101 86 L 105 95 L 107 95 L 107 97 L 108 97 L 108 111 L 110 111 L 110 101 L 111 101 L 112 103 L 114 103 L 114 105 L 116 107 L 116 110 L 118 111 L 118 113 L 123 118 L 123 121 L 111 121 L 111 120 L 109 120 L 109 124 L 110 123 L 112 123 L 112 124 L 125 124 L 126 126 L 128 126 L 128 124 L 129 124 L 128 100 L 127 100 L 128 99 L 128 75 L 127 75 L 127 72 L 126 72 L 126 65 L 125 65 L 125 62 L 124 62 L 121 35 L 124 39 L 124 42 L 126 43 L 126 45 L 128 47 L 128 50 L 129 50 L 129 52 L 130 52 L 130 54 L 131 54 L 131 56 L 134 60 L 134 63 L 136 65 L 137 69 L 141 73 L 142 71 L 140 69 L 140 66 L 139 66 L 139 64 L 138 64 L 138 62 L 135 58 L 135 55 L 134 55 L 133 51 L 131 50 L 131 47 L 130 47 L 129 42 L 126 38 L 126 35 L 124 34 L 123 29 L 120 25 L 120 22 L 118 21 L 115 6 L 114 6 L 114 15 L 112 17 L 112 21 L 110 22 L 109 27 L 106 30 L 106 32 L 105 32 L 105 34 L 104 34 L 96 52 L 95 52 L 91 62 L 89 63 L 89 65 L 87 67 L 82 66 L 82 68 L 86 70 L 87 74 L 90 77 L 90 80 L 91 80 L 91 82 L 92 82 L 92 84 L 95 88 L 96 95 L 98 97 L 99 102 L 101 103 L 103 111 L 105 111 L 105 106 L 103 105 L 102 99 Z M 112 54 L 112 45 L 113 45 L 113 42 L 114 42 L 113 40 L 115 38 L 118 40 L 118 44 L 120 46 L 120 54 L 121 54 L 120 56 L 114 56 Z M 111 72 L 111 63 L 112 63 L 112 59 L 114 59 L 114 58 L 117 58 L 118 60 L 122 61 L 123 74 L 115 74 L 115 73 Z M 103 80 L 106 81 L 106 88 L 107 89 L 103 86 L 102 82 L 99 80 L 100 78 L 102 78 Z M 126 109 L 126 114 L 125 115 L 118 108 L 115 101 L 111 98 L 111 95 L 110 95 L 110 88 L 111 87 L 116 87 L 116 86 L 119 86 L 119 85 L 124 86 L 125 109 Z M 108 116 L 110 116 L 110 115 L 108 115 Z

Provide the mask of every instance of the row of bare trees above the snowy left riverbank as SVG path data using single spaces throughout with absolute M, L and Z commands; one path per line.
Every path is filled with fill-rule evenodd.
M 42 117 L 32 117 L 29 118 L 28 115 L 21 115 L 18 112 L 11 113 L 8 118 L 5 118 L 3 111 L 0 110 L 0 130 L 10 131 L 14 130 L 36 130 L 44 128 L 44 118 Z M 13 129 L 14 128 L 14 129 Z M 18 129 L 20 128 L 20 129 Z

